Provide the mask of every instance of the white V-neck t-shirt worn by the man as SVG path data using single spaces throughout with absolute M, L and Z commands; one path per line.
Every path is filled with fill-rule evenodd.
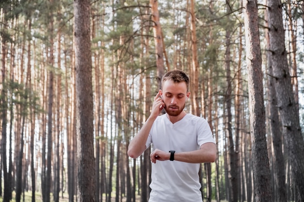
M 198 150 L 206 142 L 215 140 L 205 119 L 186 114 L 172 124 L 164 114 L 153 123 L 146 146 L 152 143 L 153 150 L 179 153 Z M 199 169 L 199 163 L 156 161 L 152 164 L 149 202 L 202 202 Z

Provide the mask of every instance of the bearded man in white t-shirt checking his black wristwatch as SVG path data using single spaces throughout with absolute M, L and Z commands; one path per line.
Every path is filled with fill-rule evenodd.
M 189 83 L 181 70 L 163 76 L 151 115 L 129 144 L 132 158 L 153 145 L 149 202 L 203 201 L 199 163 L 214 162 L 216 146 L 207 121 L 184 111 Z M 162 109 L 167 113 L 159 116 Z

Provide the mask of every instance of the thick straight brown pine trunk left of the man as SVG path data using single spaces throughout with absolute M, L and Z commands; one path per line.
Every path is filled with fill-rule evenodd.
M 79 202 L 95 202 L 90 0 L 74 1 Z

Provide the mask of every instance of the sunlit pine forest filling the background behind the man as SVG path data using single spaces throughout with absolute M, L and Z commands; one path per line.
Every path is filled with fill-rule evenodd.
M 152 148 L 127 150 L 172 69 L 216 140 L 204 202 L 304 201 L 303 1 L 0 6 L 0 201 L 148 202 Z

